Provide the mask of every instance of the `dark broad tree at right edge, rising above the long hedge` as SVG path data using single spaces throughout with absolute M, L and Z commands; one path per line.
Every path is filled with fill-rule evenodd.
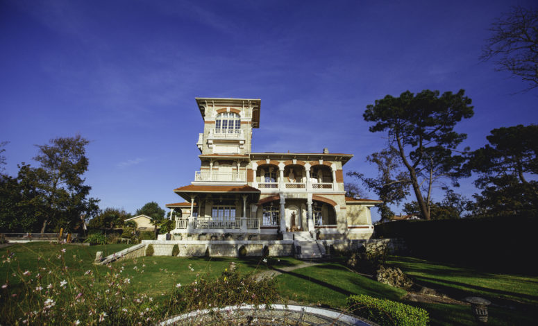
M 491 130 L 489 144 L 473 151 L 464 166 L 478 173 L 476 214 L 514 215 L 538 212 L 538 126 Z

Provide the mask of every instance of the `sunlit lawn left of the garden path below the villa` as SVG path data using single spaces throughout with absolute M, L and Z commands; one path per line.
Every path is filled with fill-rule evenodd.
M 10 277 L 11 268 L 19 268 L 21 271 L 35 271 L 40 266 L 56 264 L 65 266 L 75 277 L 82 277 L 85 271 L 91 270 L 104 275 L 108 272 L 107 266 L 94 265 L 93 261 L 97 251 L 103 251 L 103 255 L 127 248 L 130 245 L 115 244 L 106 246 L 75 246 L 60 245 L 58 243 L 34 242 L 21 243 L 14 246 L 1 248 L 0 256 L 14 252 L 17 261 L 11 264 L 0 265 L 0 283 L 16 285 L 17 277 Z M 61 250 L 65 249 L 65 252 Z M 58 255 L 62 255 L 58 258 Z M 148 295 L 162 295 L 173 289 L 178 283 L 187 284 L 194 282 L 197 277 L 209 275 L 215 277 L 221 275 L 230 262 L 235 261 L 237 268 L 242 273 L 251 271 L 267 271 L 268 266 L 283 268 L 302 264 L 297 259 L 282 257 L 269 257 L 267 263 L 261 257 L 237 259 L 230 257 L 139 257 L 137 259 L 124 259 L 112 263 L 115 273 L 121 273 L 122 277 L 131 278 L 130 291 L 146 293 Z M 192 269 L 191 269 L 192 268 Z

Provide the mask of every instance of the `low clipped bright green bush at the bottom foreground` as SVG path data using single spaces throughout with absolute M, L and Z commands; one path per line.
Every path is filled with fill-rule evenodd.
M 368 295 L 351 295 L 346 303 L 353 314 L 379 325 L 426 326 L 430 320 L 428 311 L 422 308 Z

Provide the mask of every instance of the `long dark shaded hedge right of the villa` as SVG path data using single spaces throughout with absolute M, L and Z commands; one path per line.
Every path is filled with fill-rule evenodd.
M 394 221 L 375 226 L 378 238 L 401 238 L 410 255 L 437 261 L 528 269 L 538 218 L 531 216 Z

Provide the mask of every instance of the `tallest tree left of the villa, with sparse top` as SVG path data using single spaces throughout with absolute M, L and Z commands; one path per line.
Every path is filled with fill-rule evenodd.
M 89 164 L 86 157 L 89 142 L 76 135 L 58 137 L 37 146 L 39 153 L 34 157 L 40 163 L 35 169 L 37 188 L 45 201 L 42 233 L 49 225 L 77 228 L 81 215 L 94 216 L 99 211 L 99 200 L 89 197 L 92 187 L 85 185 L 83 178 Z

